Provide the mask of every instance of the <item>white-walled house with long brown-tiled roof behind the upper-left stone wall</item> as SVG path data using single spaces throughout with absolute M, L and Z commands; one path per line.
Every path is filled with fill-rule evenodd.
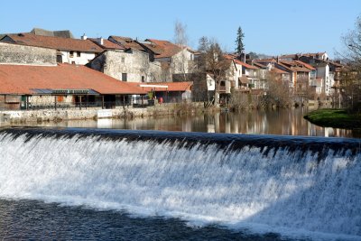
M 87 64 L 103 51 L 96 43 L 89 40 L 41 36 L 32 33 L 5 35 L 0 42 L 53 49 L 57 51 L 58 62 L 79 65 Z

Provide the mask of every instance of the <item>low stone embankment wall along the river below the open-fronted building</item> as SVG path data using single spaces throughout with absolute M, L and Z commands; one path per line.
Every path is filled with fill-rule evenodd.
M 42 109 L 0 111 L 0 127 L 27 123 L 60 122 L 98 118 L 133 118 L 143 116 L 179 115 L 203 111 L 203 103 L 162 104 L 154 107 L 116 107 L 113 109 Z

